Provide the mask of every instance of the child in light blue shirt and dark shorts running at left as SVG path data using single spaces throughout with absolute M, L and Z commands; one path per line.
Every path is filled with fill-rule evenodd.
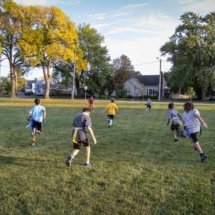
M 29 111 L 28 117 L 30 121 L 30 127 L 32 128 L 32 146 L 36 144 L 36 135 L 41 134 L 43 122 L 46 119 L 46 109 L 40 104 L 40 99 L 36 98 L 34 103 L 36 105 Z

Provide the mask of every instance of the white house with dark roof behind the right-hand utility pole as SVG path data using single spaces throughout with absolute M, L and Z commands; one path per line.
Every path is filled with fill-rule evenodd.
M 141 97 L 141 96 L 158 96 L 159 92 L 159 75 L 140 75 L 130 77 L 124 83 L 124 89 L 127 96 Z M 164 96 L 165 91 L 169 90 L 161 75 L 161 97 Z

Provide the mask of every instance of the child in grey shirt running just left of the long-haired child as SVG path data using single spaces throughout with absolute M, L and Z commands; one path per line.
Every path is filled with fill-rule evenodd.
M 167 125 L 169 125 L 170 123 L 170 129 L 172 130 L 172 134 L 174 136 L 174 141 L 178 142 L 178 137 L 177 134 L 179 133 L 179 129 L 180 129 L 180 124 L 182 124 L 182 116 L 180 115 L 180 113 L 174 109 L 174 103 L 169 103 L 168 104 L 168 112 L 167 112 L 167 117 L 168 117 L 168 121 L 167 121 Z

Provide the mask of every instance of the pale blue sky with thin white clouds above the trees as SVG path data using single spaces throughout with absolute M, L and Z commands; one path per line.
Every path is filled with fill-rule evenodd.
M 79 24 L 90 24 L 104 36 L 111 59 L 126 55 L 143 75 L 167 72 L 171 64 L 161 57 L 160 47 L 169 41 L 180 16 L 188 11 L 206 15 L 215 0 L 15 0 L 23 5 L 57 6 Z M 2 63 L 1 74 L 8 66 Z M 32 71 L 30 78 L 39 74 Z M 29 78 L 28 77 L 28 78 Z

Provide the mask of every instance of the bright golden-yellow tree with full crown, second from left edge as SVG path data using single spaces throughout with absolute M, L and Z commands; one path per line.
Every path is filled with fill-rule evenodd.
M 42 68 L 49 98 L 51 67 L 57 61 L 73 61 L 77 42 L 75 24 L 57 7 L 31 6 L 25 19 L 29 28 L 20 42 L 22 53 L 32 66 Z M 30 57 L 29 57 L 30 56 Z

